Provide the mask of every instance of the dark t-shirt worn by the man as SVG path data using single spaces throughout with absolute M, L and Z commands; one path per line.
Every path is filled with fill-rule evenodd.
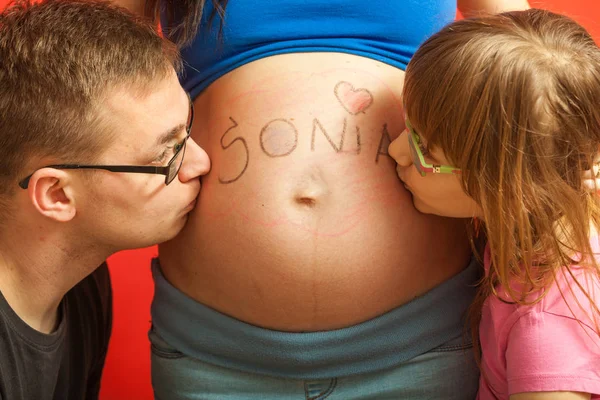
M 58 328 L 43 334 L 0 293 L 0 399 L 97 399 L 112 323 L 106 263 L 71 289 Z

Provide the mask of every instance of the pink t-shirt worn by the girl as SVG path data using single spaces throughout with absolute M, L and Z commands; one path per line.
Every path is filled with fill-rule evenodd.
M 484 266 L 487 273 L 489 248 Z M 571 270 L 592 298 L 600 300 L 597 275 L 576 266 Z M 557 282 L 535 305 L 509 304 L 496 296 L 485 301 L 478 400 L 552 391 L 591 393 L 592 399 L 600 399 L 600 316 L 566 268 L 557 275 Z

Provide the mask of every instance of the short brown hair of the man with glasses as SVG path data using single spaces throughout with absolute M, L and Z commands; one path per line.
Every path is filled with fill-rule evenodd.
M 108 2 L 27 0 L 5 9 L 0 212 L 36 162 L 89 163 L 110 145 L 98 110 L 112 89 L 150 90 L 178 65 L 176 47 L 151 23 Z

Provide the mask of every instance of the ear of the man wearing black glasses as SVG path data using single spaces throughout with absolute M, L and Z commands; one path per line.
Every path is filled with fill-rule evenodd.
M 67 222 L 75 217 L 75 191 L 66 171 L 55 168 L 35 171 L 29 180 L 27 192 L 40 214 L 59 222 Z

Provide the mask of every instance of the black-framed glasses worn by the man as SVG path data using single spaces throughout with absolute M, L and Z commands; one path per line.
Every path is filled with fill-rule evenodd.
M 165 167 L 152 167 L 149 165 L 82 165 L 82 164 L 55 164 L 55 165 L 47 165 L 42 168 L 56 168 L 56 169 L 103 169 L 111 172 L 130 172 L 136 174 L 160 174 L 165 175 L 165 185 L 168 185 L 175 179 L 181 165 L 183 164 L 183 156 L 185 155 L 185 148 L 188 139 L 190 138 L 190 132 L 192 130 L 192 123 L 194 122 L 194 103 L 192 99 L 188 95 L 188 99 L 190 102 L 190 114 L 188 118 L 188 124 L 186 126 L 186 136 L 185 139 L 181 143 L 175 145 L 174 150 L 175 154 L 169 161 L 169 163 Z M 37 170 L 36 170 L 37 171 Z M 19 186 L 23 189 L 27 189 L 29 186 L 29 180 L 31 176 L 35 173 L 31 173 L 29 176 L 25 177 L 23 180 L 19 182 Z

